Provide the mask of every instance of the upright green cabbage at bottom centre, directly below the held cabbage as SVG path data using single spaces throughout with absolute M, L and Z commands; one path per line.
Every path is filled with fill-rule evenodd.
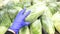
M 30 32 L 31 34 L 42 34 L 42 25 L 40 19 L 31 24 Z

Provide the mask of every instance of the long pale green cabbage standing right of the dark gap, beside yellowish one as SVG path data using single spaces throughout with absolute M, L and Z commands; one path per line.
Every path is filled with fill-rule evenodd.
M 49 11 L 45 11 L 42 15 L 42 26 L 48 34 L 55 33 L 54 24 L 51 19 L 51 13 Z

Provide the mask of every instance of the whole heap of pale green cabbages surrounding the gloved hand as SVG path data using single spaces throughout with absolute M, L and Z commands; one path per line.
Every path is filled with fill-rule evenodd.
M 0 0 L 0 34 L 24 7 L 26 12 L 31 11 L 25 19 L 31 24 L 21 28 L 19 34 L 43 34 L 42 28 L 47 34 L 60 34 L 60 0 Z

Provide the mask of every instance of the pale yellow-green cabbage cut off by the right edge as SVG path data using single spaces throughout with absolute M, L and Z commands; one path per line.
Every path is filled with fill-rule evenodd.
M 60 33 L 60 12 L 55 13 L 52 16 L 52 20 L 56 30 Z

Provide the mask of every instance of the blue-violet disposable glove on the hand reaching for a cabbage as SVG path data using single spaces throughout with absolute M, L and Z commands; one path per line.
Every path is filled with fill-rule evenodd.
M 16 34 L 18 34 L 19 29 L 30 24 L 29 22 L 25 22 L 25 18 L 30 14 L 30 11 L 26 13 L 25 11 L 26 9 L 23 9 L 17 14 L 12 26 L 9 28 L 13 30 Z

